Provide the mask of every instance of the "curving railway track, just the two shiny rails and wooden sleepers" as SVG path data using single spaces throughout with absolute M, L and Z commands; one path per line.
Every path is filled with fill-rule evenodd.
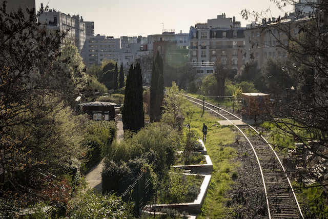
M 245 137 L 252 148 L 260 169 L 265 200 L 267 202 L 269 218 L 304 218 L 298 204 L 291 181 L 280 161 L 267 140 L 254 127 L 240 124 L 241 118 L 233 113 L 204 102 L 200 99 L 184 95 L 190 102 L 203 107 L 204 110 L 230 121 Z

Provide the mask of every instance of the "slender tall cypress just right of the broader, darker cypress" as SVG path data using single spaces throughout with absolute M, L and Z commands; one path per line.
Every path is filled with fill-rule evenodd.
M 161 104 L 163 101 L 164 77 L 163 77 L 163 59 L 159 52 L 153 61 L 152 75 L 150 82 L 150 121 L 156 122 L 161 117 Z

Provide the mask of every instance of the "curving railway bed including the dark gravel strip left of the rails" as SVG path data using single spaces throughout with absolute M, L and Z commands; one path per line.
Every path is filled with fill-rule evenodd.
M 240 118 L 201 100 L 187 98 L 222 120 Z M 255 128 L 247 124 L 231 125 L 232 131 L 243 135 L 234 144 L 241 166 L 227 202 L 232 209 L 231 218 L 303 218 L 278 154 Z

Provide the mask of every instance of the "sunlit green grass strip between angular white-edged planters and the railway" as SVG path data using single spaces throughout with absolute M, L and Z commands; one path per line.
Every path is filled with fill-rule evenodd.
M 217 126 L 218 117 L 205 112 L 193 105 L 189 106 L 194 111 L 191 129 L 195 131 L 197 137 L 202 139 L 202 124 L 208 126 L 206 148 L 213 163 L 212 179 L 208 194 L 204 200 L 201 213 L 197 218 L 226 218 L 229 209 L 225 206 L 228 200 L 225 195 L 233 184 L 233 175 L 236 177 L 236 167 L 238 164 L 231 160 L 238 156 L 237 151 L 229 147 L 235 142 L 238 133 L 232 132 L 231 127 Z

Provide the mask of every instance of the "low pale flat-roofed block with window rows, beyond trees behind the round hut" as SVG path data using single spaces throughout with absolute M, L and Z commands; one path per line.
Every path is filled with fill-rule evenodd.
M 104 59 L 120 63 L 120 39 L 97 34 L 85 42 L 84 61 L 87 65 L 101 64 Z

